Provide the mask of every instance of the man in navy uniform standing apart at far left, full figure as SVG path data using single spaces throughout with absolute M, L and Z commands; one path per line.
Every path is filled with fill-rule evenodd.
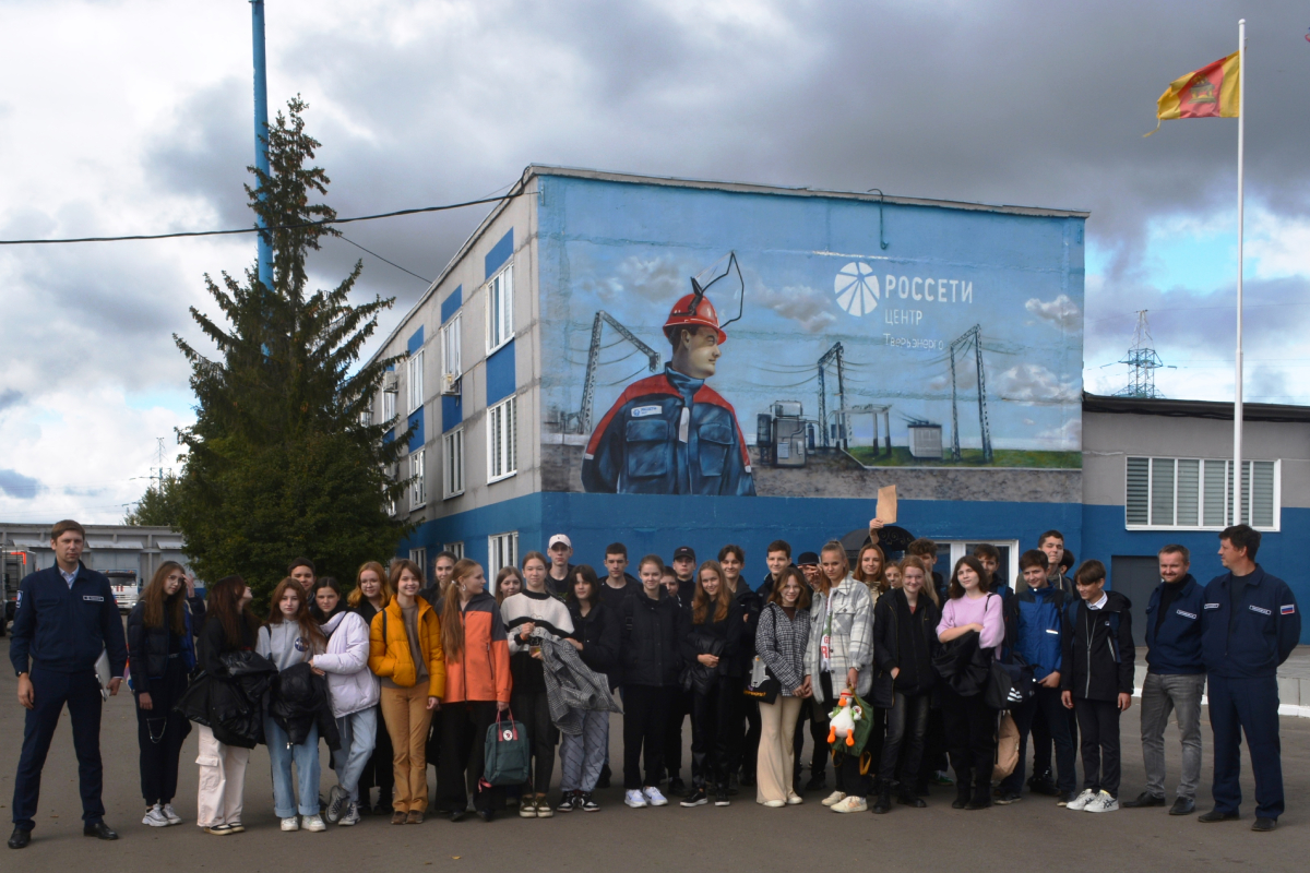
M 18 703 L 28 709 L 22 754 L 13 780 L 13 834 L 9 848 L 31 840 L 41 793 L 41 770 L 59 713 L 68 704 L 83 798 L 83 834 L 117 840 L 101 802 L 100 711 L 103 703 L 96 661 L 107 652 L 109 692 L 118 694 L 127 666 L 127 640 L 109 580 L 81 563 L 86 531 L 60 521 L 50 534 L 55 565 L 22 580 L 13 619 L 9 661 L 18 674 Z

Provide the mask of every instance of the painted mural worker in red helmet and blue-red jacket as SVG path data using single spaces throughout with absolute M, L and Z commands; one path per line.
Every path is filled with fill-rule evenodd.
M 587 441 L 582 484 L 591 492 L 755 496 L 751 454 L 736 412 L 705 383 L 727 334 L 697 289 L 664 322 L 672 361 L 633 382 Z

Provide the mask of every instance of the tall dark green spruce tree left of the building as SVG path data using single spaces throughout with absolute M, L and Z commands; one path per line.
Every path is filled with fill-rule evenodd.
M 297 97 L 269 126 L 270 173 L 248 168 L 250 208 L 272 228 L 272 288 L 257 267 L 244 284 L 206 275 L 221 315 L 193 306 L 191 317 L 217 355 L 174 335 L 198 403 L 195 424 L 179 433 L 189 449 L 177 520 L 186 552 L 202 579 L 241 575 L 261 602 L 297 556 L 346 581 L 365 560 L 385 561 L 405 533 L 384 509 L 403 490 L 386 475 L 403 435 L 385 440 L 394 421 L 365 415 L 394 360 L 359 365 L 394 298 L 350 302 L 363 262 L 335 288 L 309 289 L 307 257 L 339 234 L 317 224 L 337 213 L 314 202 L 330 179 L 313 166 L 320 143 L 305 134 L 305 107 Z

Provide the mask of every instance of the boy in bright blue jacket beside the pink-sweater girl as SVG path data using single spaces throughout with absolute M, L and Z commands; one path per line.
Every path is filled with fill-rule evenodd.
M 1002 806 L 1019 800 L 1023 789 L 1023 766 L 1028 747 L 1028 732 L 1032 720 L 1044 713 L 1047 724 L 1052 725 L 1052 739 L 1056 746 L 1056 768 L 1060 774 L 1060 802 L 1074 798 L 1077 775 L 1074 774 L 1073 739 L 1065 720 L 1064 703 L 1060 694 L 1060 675 L 1064 671 L 1064 637 L 1066 636 L 1064 614 L 1068 607 L 1064 592 L 1047 584 L 1047 556 L 1036 548 L 1030 548 L 1019 556 L 1019 572 L 1027 589 L 1015 594 L 1006 603 L 1006 644 L 1014 654 L 1032 668 L 1036 679 L 1036 692 L 1024 703 L 1010 711 L 1014 725 L 1019 730 L 1019 763 L 1014 772 L 1006 776 L 997 788 L 996 802 Z

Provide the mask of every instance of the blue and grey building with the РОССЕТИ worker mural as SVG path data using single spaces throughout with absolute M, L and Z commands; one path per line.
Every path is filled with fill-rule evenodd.
M 537 165 L 510 195 L 377 352 L 403 552 L 735 542 L 753 579 L 896 484 L 943 567 L 1047 529 L 1111 564 L 1083 544 L 1086 212 Z M 1099 531 L 1128 479 L 1095 469 Z

